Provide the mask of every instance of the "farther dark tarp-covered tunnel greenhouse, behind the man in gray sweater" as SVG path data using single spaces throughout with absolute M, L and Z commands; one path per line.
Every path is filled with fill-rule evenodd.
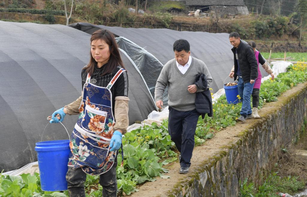
M 214 93 L 223 88 L 223 81 L 225 79 L 225 82 L 233 81 L 233 79 L 227 78 L 233 66 L 232 46 L 229 43 L 228 33 L 179 32 L 171 29 L 107 27 L 89 23 L 74 23 L 69 26 L 89 34 L 102 28 L 111 31 L 115 36 L 124 37 L 125 40 L 120 37 L 116 39 L 119 47 L 124 49 L 131 59 L 134 60 L 145 78 L 151 93 L 153 93 L 154 85 L 162 69 L 160 63 L 164 65 L 170 59 L 174 58 L 173 43 L 179 39 L 188 40 L 191 55 L 206 63 L 213 78 L 211 88 Z M 137 49 L 131 43 L 137 45 L 140 49 Z M 144 59 L 142 59 L 138 50 L 148 51 L 157 60 L 155 63 L 150 63 L 152 60 L 146 62 L 147 56 L 144 56 Z M 262 66 L 260 66 L 260 70 L 262 76 L 268 75 Z

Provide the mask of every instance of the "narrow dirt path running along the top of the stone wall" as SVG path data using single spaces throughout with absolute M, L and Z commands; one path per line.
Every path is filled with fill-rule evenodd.
M 296 87 L 288 90 L 278 97 L 278 101 L 267 103 L 259 110 L 259 115 L 262 116 L 267 114 L 270 110 L 275 109 L 277 106 L 281 104 L 282 101 L 286 100 L 288 96 L 295 94 L 297 91 L 301 90 L 303 87 L 307 86 L 307 82 L 303 84 L 299 84 Z M 248 119 L 246 123 L 237 123 L 233 127 L 227 127 L 224 130 L 221 130 L 216 133 L 216 135 L 205 142 L 205 144 L 201 146 L 196 146 L 193 151 L 193 156 L 191 159 L 191 167 L 190 172 L 188 174 L 182 175 L 179 174 L 180 164 L 179 162 L 172 163 L 168 165 L 169 173 L 165 173 L 169 175 L 171 178 L 169 179 L 161 179 L 157 177 L 157 180 L 154 182 L 146 182 L 138 189 L 138 192 L 133 193 L 132 197 L 164 197 L 167 196 L 167 191 L 171 190 L 173 186 L 183 180 L 183 178 L 187 177 L 191 172 L 195 171 L 198 166 L 207 160 L 208 157 L 212 157 L 219 153 L 223 149 L 222 147 L 228 145 L 232 142 L 236 142 L 239 137 L 237 135 L 243 131 L 244 129 L 251 126 L 251 124 L 255 123 L 257 119 Z

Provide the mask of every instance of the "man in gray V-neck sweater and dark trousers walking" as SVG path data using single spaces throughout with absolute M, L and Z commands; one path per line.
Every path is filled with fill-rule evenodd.
M 187 40 L 177 40 L 173 45 L 175 59 L 167 62 L 161 70 L 155 89 L 155 101 L 162 108 L 162 95 L 166 86 L 169 93 L 169 135 L 181 153 L 179 173 L 188 173 L 194 149 L 194 134 L 200 113 L 195 109 L 196 92 L 194 84 L 198 74 L 205 74 L 208 87 L 212 77 L 204 62 L 190 56 L 190 44 Z

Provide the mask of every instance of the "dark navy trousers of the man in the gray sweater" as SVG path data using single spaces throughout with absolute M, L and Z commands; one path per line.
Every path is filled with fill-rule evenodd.
M 194 149 L 194 134 L 200 113 L 196 109 L 178 111 L 169 107 L 169 135 L 181 153 L 180 166 L 190 167 Z

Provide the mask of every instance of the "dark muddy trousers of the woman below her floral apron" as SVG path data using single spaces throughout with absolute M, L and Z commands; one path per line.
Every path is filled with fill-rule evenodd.
M 103 197 L 117 196 L 116 166 L 117 158 L 115 158 L 112 168 L 99 176 L 99 184 L 103 187 Z M 86 180 L 86 173 L 81 168 L 72 169 L 72 167 L 68 166 L 66 180 L 70 197 L 85 197 L 84 182 Z

